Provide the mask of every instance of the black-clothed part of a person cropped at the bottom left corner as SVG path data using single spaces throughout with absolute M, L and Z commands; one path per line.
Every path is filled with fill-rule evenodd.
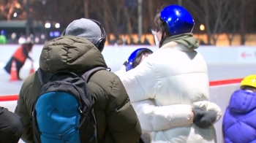
M 0 107 L 0 142 L 17 143 L 23 130 L 20 116 Z

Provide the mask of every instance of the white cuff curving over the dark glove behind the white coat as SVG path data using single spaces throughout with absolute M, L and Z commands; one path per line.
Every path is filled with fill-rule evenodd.
M 222 109 L 219 108 L 217 104 L 214 104 L 210 101 L 197 101 L 192 104 L 193 109 L 200 108 L 203 109 L 203 111 L 214 111 L 217 113 L 217 117 L 214 123 L 216 123 L 220 117 L 222 117 Z

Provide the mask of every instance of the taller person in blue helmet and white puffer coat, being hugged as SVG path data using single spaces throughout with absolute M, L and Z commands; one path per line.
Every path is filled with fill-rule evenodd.
M 118 77 L 151 142 L 217 142 L 214 123 L 222 115 L 208 101 L 206 62 L 195 49 L 194 20 L 170 5 L 155 18 L 159 50 Z

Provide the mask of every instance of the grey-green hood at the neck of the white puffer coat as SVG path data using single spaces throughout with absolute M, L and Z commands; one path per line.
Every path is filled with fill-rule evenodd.
M 177 43 L 178 45 L 183 45 L 186 50 L 184 51 L 194 51 L 199 47 L 197 39 L 193 36 L 192 33 L 179 34 L 175 36 L 169 36 L 163 42 L 162 47 L 166 47 L 169 43 Z

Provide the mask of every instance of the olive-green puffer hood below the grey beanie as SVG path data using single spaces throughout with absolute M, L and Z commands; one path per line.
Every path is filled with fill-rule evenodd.
M 50 73 L 61 69 L 84 72 L 97 66 L 107 68 L 102 53 L 78 36 L 61 36 L 46 42 L 39 58 L 39 67 Z

